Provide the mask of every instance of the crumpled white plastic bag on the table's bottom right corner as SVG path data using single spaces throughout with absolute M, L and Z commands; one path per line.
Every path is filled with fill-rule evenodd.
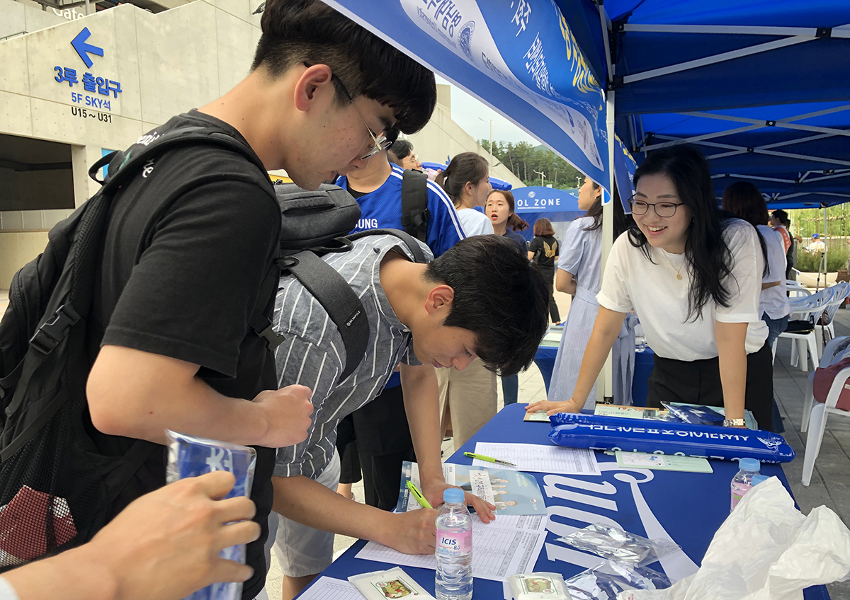
M 847 525 L 827 507 L 800 513 L 785 486 L 770 477 L 723 521 L 694 575 L 666 590 L 626 592 L 621 600 L 800 600 L 803 589 L 843 580 L 848 572 Z

